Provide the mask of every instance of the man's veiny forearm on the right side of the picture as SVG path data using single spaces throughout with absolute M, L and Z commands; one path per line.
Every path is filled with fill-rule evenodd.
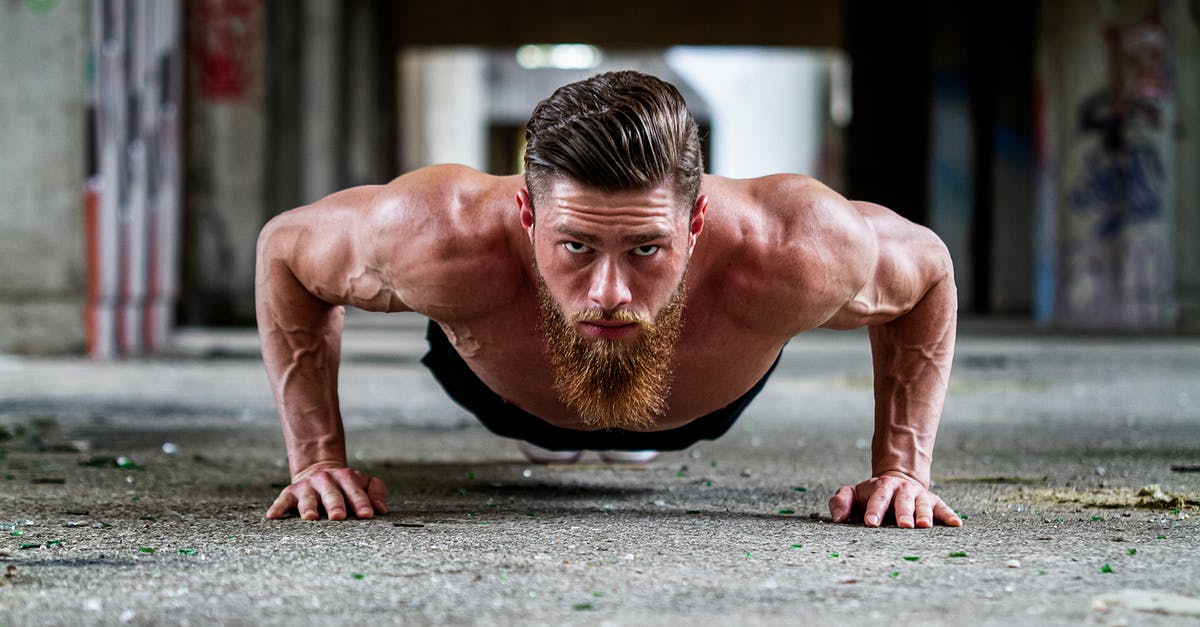
M 901 472 L 929 486 L 956 320 L 958 294 L 948 275 L 907 314 L 870 328 L 875 370 L 871 474 Z

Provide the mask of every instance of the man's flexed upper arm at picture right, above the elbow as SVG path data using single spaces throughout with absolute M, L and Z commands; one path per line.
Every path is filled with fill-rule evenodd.
M 953 280 L 949 253 L 932 231 L 877 204 L 853 204 L 870 223 L 878 252 L 863 288 L 822 324 L 824 328 L 890 322 L 911 311 L 938 281 Z

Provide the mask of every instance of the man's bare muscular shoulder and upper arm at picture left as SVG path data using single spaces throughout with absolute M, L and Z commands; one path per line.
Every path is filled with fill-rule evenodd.
M 518 181 L 436 166 L 277 216 L 259 238 L 317 298 L 437 320 L 494 306 L 520 285 L 506 235 Z M 509 187 L 512 187 L 509 190 Z

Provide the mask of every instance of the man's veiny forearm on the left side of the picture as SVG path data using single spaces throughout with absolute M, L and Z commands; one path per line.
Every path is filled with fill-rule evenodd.
M 263 363 L 283 425 L 292 477 L 344 466 L 337 399 L 344 311 L 310 294 L 282 261 L 259 251 L 256 309 Z

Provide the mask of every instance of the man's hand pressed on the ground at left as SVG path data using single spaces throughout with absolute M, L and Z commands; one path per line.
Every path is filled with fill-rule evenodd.
M 344 520 L 347 501 L 358 518 L 386 514 L 388 486 L 378 477 L 356 470 L 310 467 L 280 492 L 266 518 L 283 518 L 295 510 L 305 520 L 317 520 L 319 509 L 324 509 L 330 520 Z

